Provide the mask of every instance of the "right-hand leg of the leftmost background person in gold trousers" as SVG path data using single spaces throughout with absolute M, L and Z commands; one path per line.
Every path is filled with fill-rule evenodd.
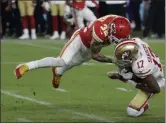
M 36 39 L 36 29 L 35 29 L 35 18 L 34 18 L 34 6 L 32 1 L 26 1 L 27 5 L 27 15 L 29 17 L 30 29 L 31 29 L 31 39 Z

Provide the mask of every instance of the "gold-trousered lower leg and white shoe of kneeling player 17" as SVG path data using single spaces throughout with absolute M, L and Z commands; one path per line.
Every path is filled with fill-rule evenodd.
M 149 107 L 148 100 L 153 96 L 151 93 L 147 93 L 139 90 L 134 99 L 127 107 L 127 113 L 129 116 L 138 117 L 142 115 Z

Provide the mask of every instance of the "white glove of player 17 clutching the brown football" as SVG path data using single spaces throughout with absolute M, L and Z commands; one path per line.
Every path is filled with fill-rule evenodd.
M 132 72 L 128 72 L 125 68 L 122 69 L 119 74 L 126 80 L 130 80 L 133 77 L 133 73 Z

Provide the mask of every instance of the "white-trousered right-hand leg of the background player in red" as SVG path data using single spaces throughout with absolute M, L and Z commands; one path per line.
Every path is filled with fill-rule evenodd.
M 83 17 L 88 22 L 93 22 L 97 19 L 95 14 L 87 7 L 83 9 Z

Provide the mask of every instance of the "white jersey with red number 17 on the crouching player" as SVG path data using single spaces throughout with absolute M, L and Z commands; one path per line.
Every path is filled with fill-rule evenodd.
M 139 38 L 133 38 L 139 46 L 139 57 L 132 64 L 133 73 L 139 78 L 146 78 L 152 74 L 156 79 L 164 77 L 160 59 L 149 45 Z

